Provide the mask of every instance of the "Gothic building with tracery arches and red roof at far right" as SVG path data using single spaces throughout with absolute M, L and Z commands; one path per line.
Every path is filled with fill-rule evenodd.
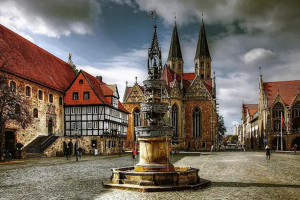
M 299 148 L 299 88 L 300 80 L 263 82 L 262 75 L 259 76 L 257 110 L 250 113 L 248 120 L 242 118 L 243 139 L 247 147 L 263 148 L 267 144 L 272 150 L 276 150 L 277 146 L 281 150 L 282 141 L 282 150 L 290 150 L 294 144 L 298 144 Z M 243 104 L 242 109 L 244 107 Z M 253 134 L 247 131 L 249 125 L 255 127 Z

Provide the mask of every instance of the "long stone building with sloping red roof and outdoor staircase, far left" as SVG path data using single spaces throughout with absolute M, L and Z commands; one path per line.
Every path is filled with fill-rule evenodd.
M 0 70 L 11 87 L 30 99 L 32 124 L 23 129 L 9 123 L 5 127 L 5 148 L 14 150 L 16 143 L 28 145 L 37 137 L 63 130 L 63 97 L 75 72 L 73 66 L 24 39 L 0 24 Z

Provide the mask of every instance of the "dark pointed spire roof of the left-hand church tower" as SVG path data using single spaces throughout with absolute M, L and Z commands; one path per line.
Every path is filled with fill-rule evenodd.
M 168 55 L 166 61 L 168 62 L 172 59 L 182 60 L 182 53 L 181 53 L 181 47 L 180 47 L 180 42 L 179 42 L 179 37 L 178 37 L 178 32 L 177 32 L 177 27 L 176 27 L 176 21 L 174 23 L 173 34 L 172 34 L 170 49 L 169 49 L 169 55 Z

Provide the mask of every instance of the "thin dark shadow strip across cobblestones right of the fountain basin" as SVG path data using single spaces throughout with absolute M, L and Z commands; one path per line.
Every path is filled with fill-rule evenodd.
M 211 186 L 216 187 L 300 187 L 296 184 L 270 184 L 270 183 L 245 183 L 245 182 L 213 182 Z

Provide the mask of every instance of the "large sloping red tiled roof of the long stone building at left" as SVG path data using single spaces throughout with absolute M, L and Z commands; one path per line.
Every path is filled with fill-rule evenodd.
M 0 24 L 0 63 L 4 71 L 63 91 L 75 77 L 70 65 Z

